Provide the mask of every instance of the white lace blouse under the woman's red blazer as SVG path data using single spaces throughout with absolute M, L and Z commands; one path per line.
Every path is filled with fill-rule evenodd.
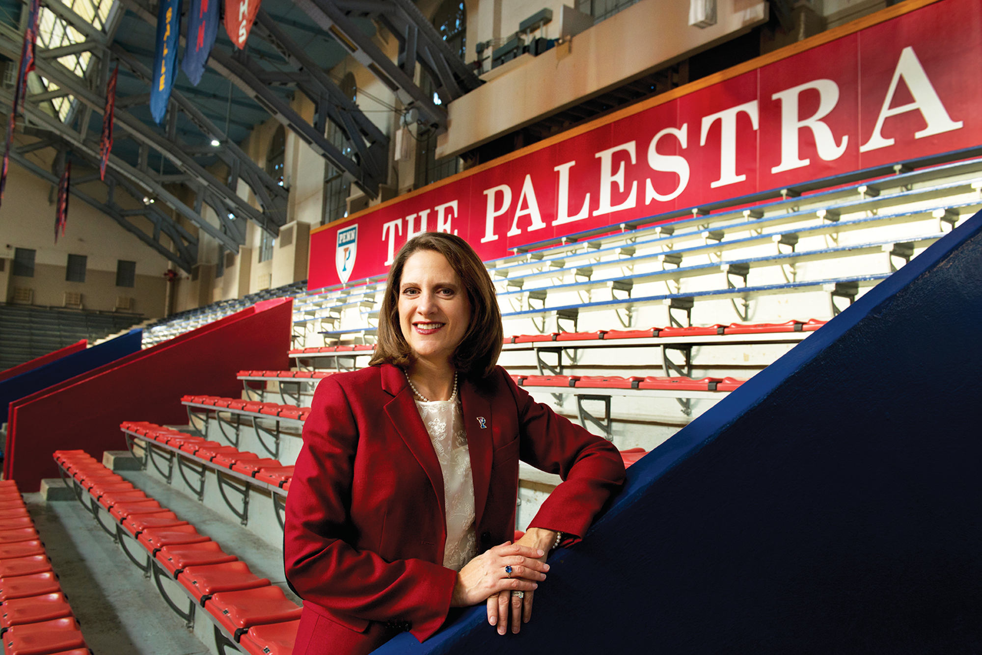
M 447 508 L 443 566 L 460 571 L 477 554 L 474 479 L 470 472 L 464 410 L 460 398 L 415 402 L 443 471 L 444 505 Z

